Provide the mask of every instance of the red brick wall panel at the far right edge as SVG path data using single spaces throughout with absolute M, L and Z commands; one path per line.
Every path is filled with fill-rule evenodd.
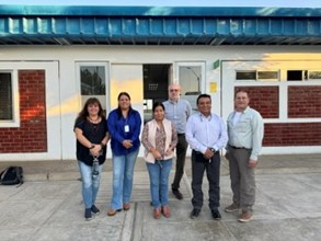
M 321 117 L 321 87 L 288 87 L 288 117 Z

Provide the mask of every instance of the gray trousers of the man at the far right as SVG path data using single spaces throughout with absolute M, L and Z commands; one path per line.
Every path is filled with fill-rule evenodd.
M 233 203 L 252 211 L 255 203 L 255 169 L 249 168 L 251 150 L 229 149 L 229 164 Z

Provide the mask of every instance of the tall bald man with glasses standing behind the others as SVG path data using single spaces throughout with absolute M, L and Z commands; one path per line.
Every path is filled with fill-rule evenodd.
M 180 192 L 180 182 L 184 174 L 185 158 L 187 150 L 187 142 L 185 139 L 185 127 L 192 107 L 188 101 L 181 100 L 181 87 L 177 83 L 169 85 L 169 100 L 163 102 L 165 106 L 165 118 L 174 123 L 177 131 L 176 145 L 176 169 L 175 177 L 172 183 L 172 192 L 177 199 L 183 199 L 183 194 Z

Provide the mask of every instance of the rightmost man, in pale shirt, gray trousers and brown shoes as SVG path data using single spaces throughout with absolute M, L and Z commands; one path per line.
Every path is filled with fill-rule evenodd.
M 233 203 L 225 208 L 231 213 L 242 209 L 239 221 L 247 222 L 253 217 L 255 203 L 254 169 L 262 148 L 264 124 L 259 112 L 249 106 L 247 91 L 239 90 L 234 95 L 236 110 L 228 116 L 229 142 L 227 159 L 230 167 Z

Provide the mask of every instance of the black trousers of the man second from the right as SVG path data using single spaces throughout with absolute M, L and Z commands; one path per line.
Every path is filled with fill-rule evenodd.
M 210 161 L 206 160 L 200 152 L 192 151 L 192 205 L 195 209 L 200 209 L 204 203 L 202 183 L 206 170 L 208 180 L 208 207 L 215 210 L 219 207 L 219 175 L 220 175 L 220 157 L 216 151 Z

